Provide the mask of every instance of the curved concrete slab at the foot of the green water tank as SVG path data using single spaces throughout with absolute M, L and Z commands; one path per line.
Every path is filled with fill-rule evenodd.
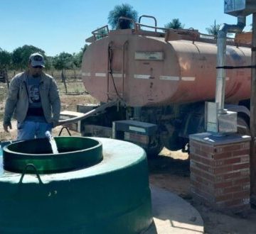
M 150 186 L 154 222 L 144 234 L 204 233 L 203 219 L 191 204 L 156 186 Z

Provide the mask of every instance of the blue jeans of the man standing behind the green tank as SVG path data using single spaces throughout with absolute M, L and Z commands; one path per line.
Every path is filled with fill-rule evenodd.
M 35 121 L 23 121 L 22 123 L 17 123 L 17 140 L 45 138 L 46 131 L 51 131 L 52 128 L 52 123 L 41 123 Z

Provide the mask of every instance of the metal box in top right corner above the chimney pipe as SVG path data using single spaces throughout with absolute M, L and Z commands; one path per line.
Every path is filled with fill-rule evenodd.
M 248 16 L 255 12 L 255 0 L 224 0 L 224 13 L 231 16 Z

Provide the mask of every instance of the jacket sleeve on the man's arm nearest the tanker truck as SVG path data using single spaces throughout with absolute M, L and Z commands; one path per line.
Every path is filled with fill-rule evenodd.
M 50 82 L 50 105 L 53 111 L 53 122 L 58 123 L 60 118 L 60 96 L 54 79 Z

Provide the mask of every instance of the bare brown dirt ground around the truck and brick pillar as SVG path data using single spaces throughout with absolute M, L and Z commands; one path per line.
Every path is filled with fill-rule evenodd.
M 96 103 L 90 95 L 65 95 L 60 96 L 62 111 L 76 111 L 77 104 Z M 3 107 L 0 106 L 0 110 Z M 53 135 L 57 136 L 60 126 L 53 130 Z M 79 135 L 71 132 L 72 135 Z M 63 131 L 63 135 L 67 132 Z M 0 140 L 15 140 L 16 123 L 13 122 L 13 129 L 10 133 L 4 133 L 2 120 L 0 123 Z M 256 209 L 252 208 L 246 216 L 225 214 L 214 211 L 213 208 L 198 204 L 193 201 L 190 192 L 190 172 L 188 154 L 181 151 L 171 152 L 164 148 L 159 156 L 149 160 L 149 181 L 155 186 L 169 190 L 194 206 L 204 221 L 205 233 L 256 233 Z

